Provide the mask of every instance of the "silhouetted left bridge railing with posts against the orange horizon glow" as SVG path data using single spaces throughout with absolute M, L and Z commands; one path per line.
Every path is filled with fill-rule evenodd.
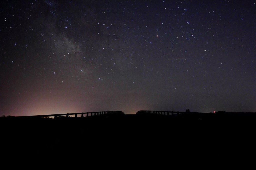
M 113 114 L 113 113 L 120 113 L 124 114 L 122 111 L 104 111 L 104 112 L 85 112 L 85 113 L 64 113 L 64 114 L 51 114 L 51 115 L 35 115 L 35 116 L 18 116 L 18 117 L 54 117 L 57 118 L 58 116 L 66 116 L 69 117 L 70 115 L 81 115 L 81 117 L 91 117 L 91 116 L 98 116 L 98 115 L 105 115 L 105 114 Z

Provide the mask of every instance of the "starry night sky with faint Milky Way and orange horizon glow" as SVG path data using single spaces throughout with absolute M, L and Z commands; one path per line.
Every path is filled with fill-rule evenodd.
M 0 116 L 256 112 L 255 1 L 0 8 Z

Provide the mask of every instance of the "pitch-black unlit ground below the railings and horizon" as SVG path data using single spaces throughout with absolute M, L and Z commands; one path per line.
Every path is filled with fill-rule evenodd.
M 247 160 L 246 166 L 254 160 L 255 120 L 255 113 L 1 117 L 1 154 L 6 160 L 62 160 L 61 165 L 101 162 L 95 167 L 106 165 L 102 161 L 159 168 Z

